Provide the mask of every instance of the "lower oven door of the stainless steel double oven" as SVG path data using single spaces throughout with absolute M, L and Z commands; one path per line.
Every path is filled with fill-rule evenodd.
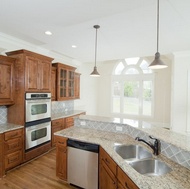
M 51 122 L 25 127 L 25 150 L 51 140 Z

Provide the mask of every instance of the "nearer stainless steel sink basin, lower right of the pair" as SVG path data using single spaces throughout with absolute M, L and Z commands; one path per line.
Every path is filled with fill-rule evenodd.
M 172 171 L 164 162 L 158 159 L 144 159 L 129 163 L 137 172 L 147 176 L 161 176 Z

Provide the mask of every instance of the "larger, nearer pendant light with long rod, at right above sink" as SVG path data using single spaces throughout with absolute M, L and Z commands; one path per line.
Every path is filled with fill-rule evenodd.
M 168 66 L 162 62 L 160 59 L 160 53 L 158 52 L 159 47 L 159 0 L 157 0 L 157 52 L 155 54 L 154 61 L 149 65 L 151 69 L 162 69 L 167 68 Z

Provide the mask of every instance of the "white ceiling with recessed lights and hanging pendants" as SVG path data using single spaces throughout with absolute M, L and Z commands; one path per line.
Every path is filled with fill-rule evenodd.
M 91 62 L 98 24 L 98 61 L 153 56 L 156 15 L 157 0 L 0 0 L 0 32 Z M 161 55 L 190 50 L 190 0 L 160 0 L 159 41 Z

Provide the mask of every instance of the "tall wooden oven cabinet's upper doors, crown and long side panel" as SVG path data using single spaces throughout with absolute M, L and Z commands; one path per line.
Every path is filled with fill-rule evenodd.
M 14 105 L 8 107 L 7 120 L 17 125 L 25 124 L 25 93 L 51 92 L 52 58 L 27 50 L 6 53 L 15 58 Z

